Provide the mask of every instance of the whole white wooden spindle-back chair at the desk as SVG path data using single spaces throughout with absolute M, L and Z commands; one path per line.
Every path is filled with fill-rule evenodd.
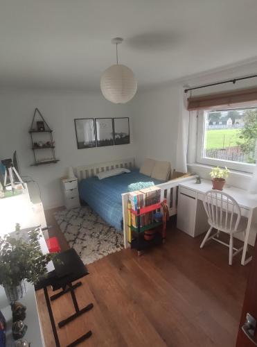
M 229 265 L 232 265 L 233 257 L 240 253 L 243 248 L 233 247 L 233 235 L 239 232 L 245 234 L 247 219 L 241 217 L 241 210 L 236 200 L 232 198 L 232 196 L 229 196 L 229 194 L 221 192 L 220 190 L 212 189 L 206 192 L 204 194 L 203 203 L 210 228 L 206 232 L 200 248 L 203 248 L 204 244 L 210 239 L 229 247 Z M 211 235 L 211 230 L 213 228 L 217 229 L 217 232 Z M 229 244 L 218 239 L 220 231 L 230 235 Z

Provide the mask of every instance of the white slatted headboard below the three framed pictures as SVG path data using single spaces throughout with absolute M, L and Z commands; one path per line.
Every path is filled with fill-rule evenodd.
M 109 171 L 112 169 L 116 169 L 118 167 L 126 167 L 127 169 L 132 169 L 134 167 L 134 158 L 126 158 L 121 160 L 114 160 L 112 162 L 99 162 L 96 164 L 85 165 L 76 167 L 76 176 L 78 180 L 82 180 L 83 178 L 94 177 L 99 172 Z

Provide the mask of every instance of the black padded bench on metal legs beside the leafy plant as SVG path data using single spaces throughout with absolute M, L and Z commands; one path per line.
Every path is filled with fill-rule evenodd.
M 53 335 L 55 337 L 55 344 L 57 347 L 60 347 L 60 341 L 55 327 L 55 320 L 53 318 L 51 301 L 60 298 L 60 296 L 68 292 L 71 293 L 71 298 L 76 312 L 71 316 L 67 317 L 66 319 L 60 321 L 58 323 L 59 328 L 62 328 L 67 323 L 73 321 L 73 319 L 76 319 L 78 316 L 81 316 L 81 314 L 88 312 L 93 308 L 94 305 L 92 303 L 89 303 L 89 305 L 83 307 L 81 310 L 78 307 L 78 302 L 74 290 L 80 287 L 80 285 L 82 285 L 82 282 L 76 282 L 74 285 L 72 283 L 79 280 L 82 277 L 87 276 L 89 272 L 87 271 L 86 266 L 83 264 L 76 251 L 73 248 L 71 248 L 62 253 L 58 253 L 55 260 L 53 260 L 53 264 L 55 266 L 55 270 L 48 273 L 46 278 L 42 278 L 37 283 L 37 285 L 35 285 L 35 289 L 44 289 L 44 296 L 46 298 L 48 314 L 51 320 Z M 51 298 L 49 298 L 47 290 L 48 285 L 52 286 L 53 291 L 58 289 L 62 289 L 62 291 L 60 291 L 57 294 L 54 294 L 53 296 L 51 296 Z M 67 347 L 77 346 L 78 344 L 80 344 L 80 342 L 85 341 L 85 339 L 88 339 L 91 335 L 92 332 L 91 330 L 89 330 L 85 335 L 82 335 L 81 337 L 76 339 L 76 341 L 73 341 L 71 344 L 69 344 Z

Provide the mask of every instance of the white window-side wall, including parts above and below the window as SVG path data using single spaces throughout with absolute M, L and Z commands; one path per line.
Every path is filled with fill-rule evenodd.
M 215 83 L 256 74 L 256 71 L 257 62 L 252 62 L 251 64 L 202 74 L 202 76 L 186 78 L 184 81 L 166 83 L 165 85 L 159 85 L 139 92 L 132 101 L 136 162 L 140 164 L 143 158 L 150 157 L 157 160 L 169 160 L 172 167 L 175 168 L 177 128 L 179 110 L 182 103 L 181 88 L 183 85 L 193 87 Z M 192 96 L 211 94 L 224 90 L 235 90 L 254 85 L 257 85 L 257 78 L 240 81 L 235 85 L 228 83 L 196 90 L 192 92 Z M 189 92 L 188 96 L 190 96 Z M 189 146 L 192 147 L 193 144 L 189 144 Z M 201 165 L 190 165 L 188 167 L 188 171 L 200 174 L 204 178 L 209 178 L 210 170 L 209 167 L 203 167 Z M 238 187 L 246 187 L 246 183 L 249 183 L 250 177 L 247 174 L 240 176 L 238 173 L 232 173 L 229 183 Z

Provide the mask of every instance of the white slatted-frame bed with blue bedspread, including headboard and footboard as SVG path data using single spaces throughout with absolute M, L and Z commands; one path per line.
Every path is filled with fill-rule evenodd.
M 100 172 L 121 167 L 130 169 L 131 174 L 121 174 L 121 176 L 105 178 L 102 181 L 96 178 L 96 174 Z M 161 188 L 161 201 L 166 199 L 169 215 L 173 216 L 177 214 L 179 183 L 196 177 L 188 177 L 188 174 L 172 171 L 170 180 L 163 183 L 163 181 L 141 175 L 139 170 L 134 168 L 134 158 L 76 167 L 76 176 L 79 182 L 80 198 L 88 203 L 107 223 L 114 226 L 118 232 L 123 229 L 125 248 L 129 247 L 127 204 L 130 193 L 127 192 L 127 185 L 139 180 L 154 182 Z

